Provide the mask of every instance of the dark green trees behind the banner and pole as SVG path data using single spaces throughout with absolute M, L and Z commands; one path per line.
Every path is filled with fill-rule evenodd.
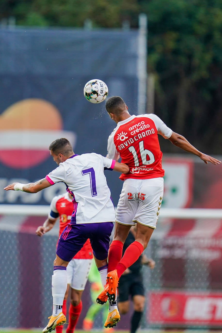
M 137 27 L 140 12 L 148 17 L 155 113 L 200 150 L 221 154 L 221 0 L 2 0 L 0 19 L 42 27 L 83 27 L 91 19 L 96 28 L 121 28 L 124 20 Z

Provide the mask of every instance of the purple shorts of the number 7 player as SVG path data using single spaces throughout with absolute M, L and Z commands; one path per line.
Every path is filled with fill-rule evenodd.
M 89 238 L 93 254 L 98 260 L 108 257 L 112 222 L 71 224 L 61 233 L 56 254 L 64 261 L 71 261 Z

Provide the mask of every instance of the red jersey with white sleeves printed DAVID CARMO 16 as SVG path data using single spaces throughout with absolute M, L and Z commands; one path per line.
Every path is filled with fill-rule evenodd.
M 107 157 L 129 166 L 127 174 L 120 179 L 147 179 L 162 177 L 162 152 L 159 147 L 158 135 L 170 138 L 172 130 L 154 114 L 130 116 L 118 122 L 108 139 Z

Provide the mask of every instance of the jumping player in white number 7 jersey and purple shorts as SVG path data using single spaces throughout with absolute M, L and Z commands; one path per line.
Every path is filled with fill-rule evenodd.
M 51 332 L 56 326 L 66 322 L 66 317 L 62 312 L 67 288 L 66 267 L 88 238 L 93 248 L 96 265 L 100 271 L 101 282 L 103 285 L 106 283 L 107 256 L 115 212 L 104 168 L 123 173 L 127 173 L 129 170 L 127 165 L 95 153 L 76 155 L 70 142 L 65 138 L 52 142 L 49 150 L 53 160 L 59 165 L 56 169 L 35 183 L 13 183 L 4 188 L 5 190 L 36 193 L 62 181 L 66 184 L 67 191 L 71 192 L 73 196 L 72 218 L 59 238 L 54 261 L 52 276 L 53 313 L 43 332 Z M 115 326 L 116 322 L 119 321 L 120 317 L 115 303 L 111 304 L 111 310 L 114 309 L 115 316 L 110 318 L 107 327 Z

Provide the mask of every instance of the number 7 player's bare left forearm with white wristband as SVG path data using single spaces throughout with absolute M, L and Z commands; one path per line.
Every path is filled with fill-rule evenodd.
M 27 192 L 27 193 L 37 193 L 37 192 L 41 191 L 42 189 L 49 187 L 49 186 L 51 186 L 50 182 L 46 178 L 43 178 L 41 180 L 36 181 L 35 183 L 28 183 L 28 184 L 12 183 L 12 184 L 4 187 L 4 189 L 6 191 L 20 190 L 20 191 Z

